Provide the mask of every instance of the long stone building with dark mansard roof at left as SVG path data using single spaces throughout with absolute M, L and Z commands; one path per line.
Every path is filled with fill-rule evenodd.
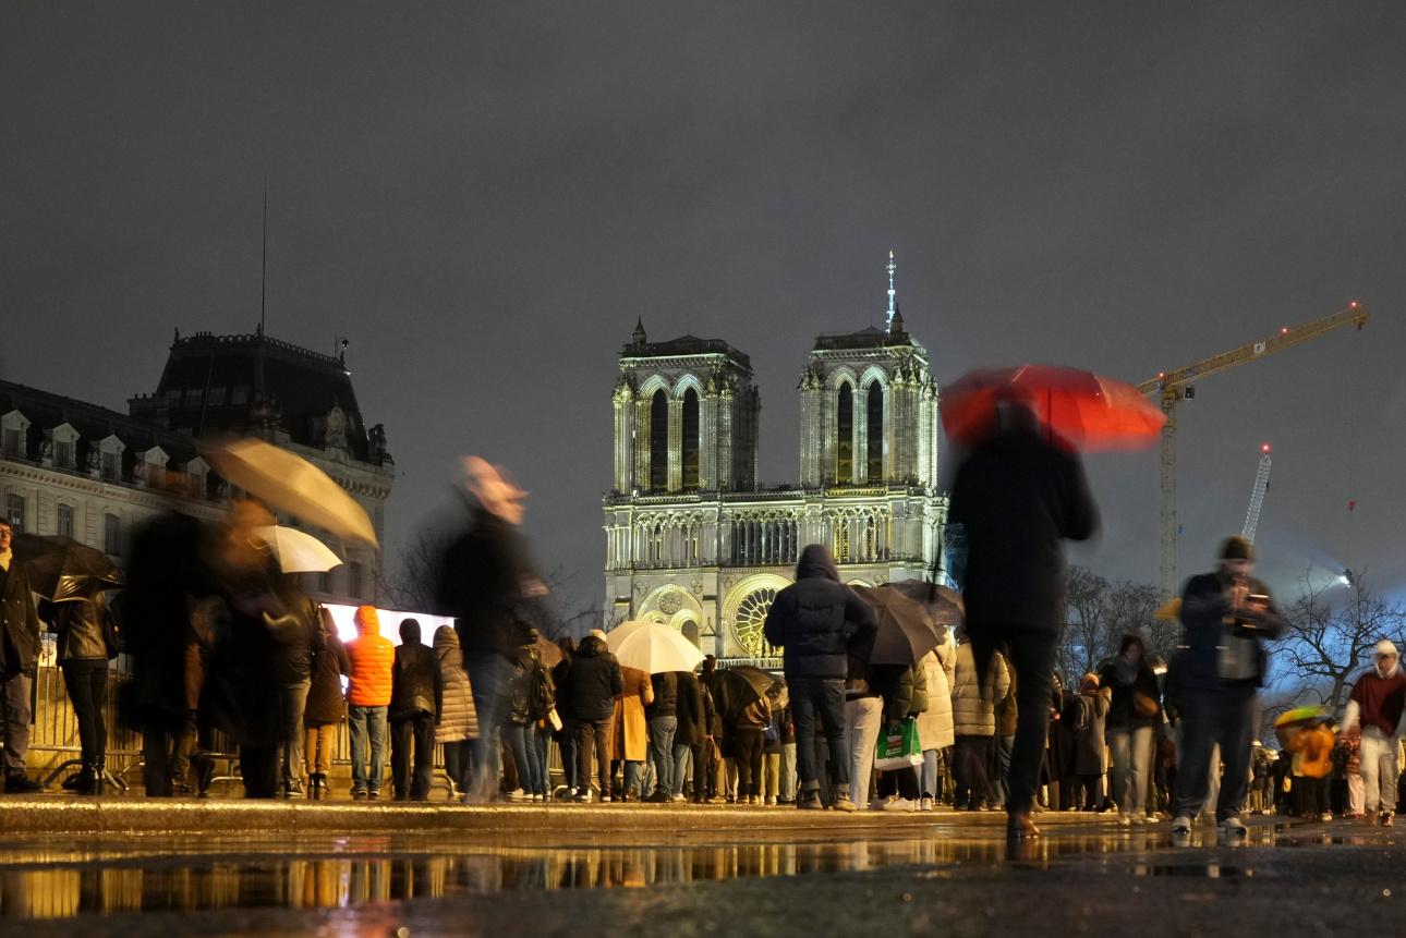
M 120 564 L 132 530 L 162 510 L 152 468 L 187 473 L 188 510 L 218 519 L 228 487 L 197 440 L 259 436 L 305 457 L 366 508 L 381 537 L 395 478 L 385 432 L 367 428 L 336 356 L 269 338 L 195 333 L 172 343 L 156 391 L 128 413 L 0 381 L 0 508 L 17 530 L 66 534 Z M 297 523 L 295 519 L 283 519 Z M 314 598 L 375 602 L 381 553 L 312 530 L 343 558 L 307 575 Z

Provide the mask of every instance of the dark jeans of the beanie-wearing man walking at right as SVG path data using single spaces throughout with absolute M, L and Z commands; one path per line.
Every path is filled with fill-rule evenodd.
M 1181 705 L 1182 751 L 1177 762 L 1177 795 L 1173 811 L 1195 817 L 1211 786 L 1211 751 L 1220 745 L 1225 773 L 1216 799 L 1216 820 L 1239 817 L 1250 786 L 1250 743 L 1254 738 L 1253 686 L 1209 690 L 1184 688 Z

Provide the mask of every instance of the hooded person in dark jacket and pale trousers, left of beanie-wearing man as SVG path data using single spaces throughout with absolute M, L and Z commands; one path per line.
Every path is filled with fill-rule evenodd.
M 1122 827 L 1146 824 L 1147 762 L 1161 705 L 1157 703 L 1157 675 L 1147 665 L 1147 645 L 1140 636 L 1123 636 L 1118 657 L 1098 672 L 1098 683 L 1112 693 L 1104 728 L 1114 757 L 1109 782 L 1118 823 Z

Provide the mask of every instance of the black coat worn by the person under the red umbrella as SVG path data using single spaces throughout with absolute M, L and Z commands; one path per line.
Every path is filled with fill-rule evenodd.
M 962 463 L 948 522 L 966 532 L 967 626 L 1063 627 L 1064 546 L 1098 527 L 1078 457 L 1011 429 Z

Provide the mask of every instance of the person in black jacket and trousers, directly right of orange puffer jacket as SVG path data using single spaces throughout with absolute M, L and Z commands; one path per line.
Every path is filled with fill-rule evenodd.
M 444 685 L 439 658 L 420 641 L 418 619 L 401 622 L 401 644 L 391 665 L 391 779 L 395 800 L 423 802 L 430 796 L 434 769 L 434 723 L 443 703 Z M 415 772 L 411 778 L 413 748 Z

